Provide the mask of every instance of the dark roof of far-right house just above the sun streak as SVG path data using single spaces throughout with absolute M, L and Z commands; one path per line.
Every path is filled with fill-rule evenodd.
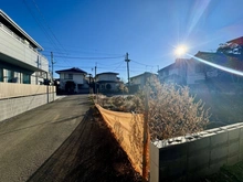
M 194 56 L 214 64 L 219 64 L 221 66 L 243 71 L 243 58 L 242 55 L 239 54 L 223 54 L 219 52 L 212 53 L 199 51 Z

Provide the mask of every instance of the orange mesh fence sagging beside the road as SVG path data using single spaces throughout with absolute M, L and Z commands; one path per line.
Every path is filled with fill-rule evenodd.
M 144 115 L 112 111 L 102 108 L 96 104 L 97 109 L 102 114 L 105 122 L 119 142 L 124 151 L 127 153 L 134 169 L 142 175 L 142 149 L 144 149 Z M 147 169 L 146 178 L 148 178 L 148 144 L 147 147 Z

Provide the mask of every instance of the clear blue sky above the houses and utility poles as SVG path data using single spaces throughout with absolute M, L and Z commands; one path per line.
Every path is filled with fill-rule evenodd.
M 215 51 L 243 35 L 242 0 L 8 0 L 2 9 L 44 47 L 54 69 L 80 67 L 94 75 L 157 73 L 175 62 L 175 47 Z M 57 75 L 55 75 L 57 76 Z

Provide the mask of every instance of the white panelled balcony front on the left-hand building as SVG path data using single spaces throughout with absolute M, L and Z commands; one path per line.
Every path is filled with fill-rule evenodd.
M 0 58 L 13 65 L 30 69 L 49 72 L 47 60 L 0 22 Z

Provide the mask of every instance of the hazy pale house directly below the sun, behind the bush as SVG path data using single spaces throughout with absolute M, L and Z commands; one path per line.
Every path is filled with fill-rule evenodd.
M 158 71 L 161 83 L 177 83 L 180 85 L 187 84 L 188 58 L 177 58 L 173 64 L 170 64 Z

